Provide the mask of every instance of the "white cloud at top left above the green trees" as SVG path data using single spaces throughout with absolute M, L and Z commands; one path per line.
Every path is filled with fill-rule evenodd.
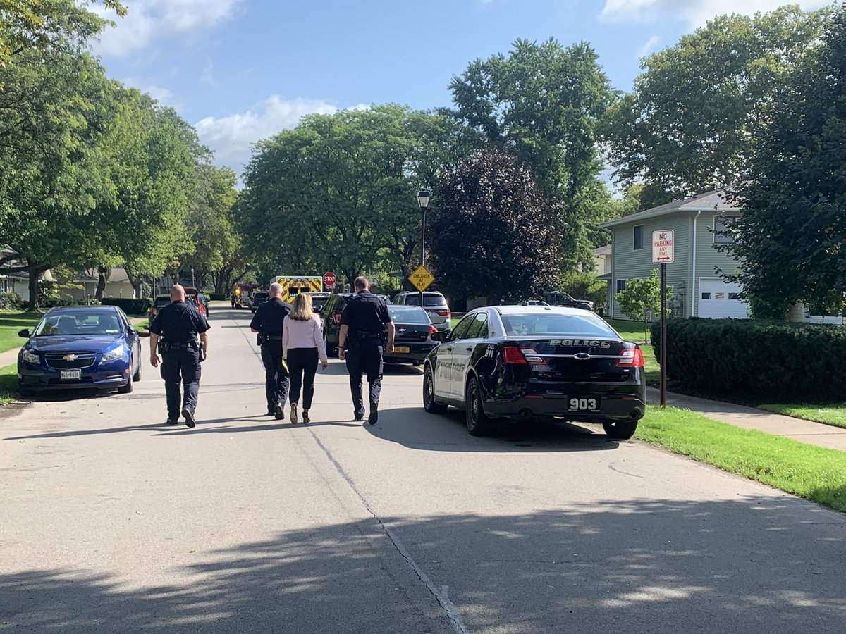
M 244 0 L 135 0 L 126 3 L 124 18 L 107 9 L 99 13 L 117 24 L 102 33 L 94 46 L 102 55 L 125 56 L 154 40 L 190 35 L 233 16 Z

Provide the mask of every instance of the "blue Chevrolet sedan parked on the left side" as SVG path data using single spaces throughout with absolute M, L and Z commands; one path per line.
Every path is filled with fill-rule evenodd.
M 50 309 L 18 354 L 18 387 L 36 390 L 96 388 L 126 394 L 141 380 L 141 342 L 117 306 Z

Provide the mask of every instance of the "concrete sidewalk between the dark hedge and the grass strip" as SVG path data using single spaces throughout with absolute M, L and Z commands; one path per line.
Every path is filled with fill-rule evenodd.
M 646 388 L 646 401 L 657 405 L 661 401 L 661 394 L 654 387 Z M 819 445 L 828 449 L 846 451 L 846 429 L 834 427 L 810 420 L 792 418 L 766 412 L 755 407 L 744 407 L 720 401 L 708 401 L 696 396 L 684 396 L 667 392 L 667 405 L 680 409 L 689 409 L 708 418 L 728 423 L 744 429 L 758 429 L 766 434 L 784 436 L 809 445 Z

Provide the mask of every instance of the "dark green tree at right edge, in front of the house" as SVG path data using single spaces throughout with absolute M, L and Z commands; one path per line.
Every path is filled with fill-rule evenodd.
M 772 105 L 737 191 L 743 216 L 724 250 L 739 260 L 756 317 L 783 317 L 801 301 L 815 312 L 844 308 L 846 268 L 846 8 Z

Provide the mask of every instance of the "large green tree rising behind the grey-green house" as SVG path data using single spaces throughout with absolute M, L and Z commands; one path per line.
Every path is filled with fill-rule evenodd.
M 645 57 L 602 141 L 618 182 L 645 183 L 648 209 L 746 176 L 779 86 L 821 36 L 830 8 L 717 17 Z

